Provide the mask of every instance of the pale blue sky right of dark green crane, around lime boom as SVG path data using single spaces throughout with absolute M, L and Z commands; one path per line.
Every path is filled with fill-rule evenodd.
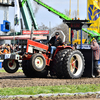
M 65 13 L 65 9 L 69 11 L 70 0 L 42 0 L 42 1 L 62 13 Z M 71 1 L 72 1 L 71 12 L 73 17 L 74 11 L 75 10 L 77 11 L 77 0 L 71 0 Z M 62 23 L 62 19 L 60 19 L 57 15 L 49 12 L 46 8 L 43 8 L 40 5 L 38 6 L 39 9 L 38 12 L 36 13 L 36 21 L 39 25 L 43 23 L 49 26 L 49 22 L 51 22 L 51 26 L 55 27 L 56 25 Z M 87 0 L 79 0 L 79 17 L 80 19 L 87 18 Z

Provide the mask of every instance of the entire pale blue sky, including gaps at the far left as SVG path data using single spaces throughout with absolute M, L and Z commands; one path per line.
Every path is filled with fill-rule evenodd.
M 56 10 L 65 13 L 65 9 L 69 11 L 69 0 L 42 0 L 47 5 L 55 8 Z M 55 27 L 62 23 L 62 19 L 60 19 L 57 15 L 49 12 L 46 8 L 36 5 L 35 1 L 31 0 L 33 5 L 33 10 L 38 8 L 37 13 L 35 13 L 35 18 L 37 24 L 40 26 L 42 23 L 49 27 L 49 23 L 51 23 L 51 27 Z M 71 5 L 72 14 L 74 11 L 77 11 L 77 0 L 72 0 Z M 3 11 L 0 10 L 0 24 L 3 23 Z M 87 0 L 79 0 L 79 16 L 80 19 L 87 18 Z M 9 21 L 11 22 L 11 27 L 14 28 L 14 8 L 9 8 Z

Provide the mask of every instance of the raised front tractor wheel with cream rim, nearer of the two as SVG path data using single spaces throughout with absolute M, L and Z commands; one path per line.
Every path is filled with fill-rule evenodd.
M 46 67 L 46 61 L 42 54 L 35 53 L 30 59 L 30 66 L 36 72 L 41 72 Z

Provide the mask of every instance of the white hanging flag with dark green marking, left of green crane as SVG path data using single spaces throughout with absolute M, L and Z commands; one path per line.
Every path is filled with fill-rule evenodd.
M 19 20 L 20 20 L 20 8 L 19 8 L 19 1 L 15 0 L 15 17 L 14 17 L 14 25 L 15 31 L 19 28 Z

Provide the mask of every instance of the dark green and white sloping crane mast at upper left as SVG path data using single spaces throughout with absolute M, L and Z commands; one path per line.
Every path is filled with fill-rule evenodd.
M 30 0 L 20 0 L 20 10 L 24 20 L 25 28 L 27 30 L 31 30 L 33 23 L 34 29 L 38 30 Z

